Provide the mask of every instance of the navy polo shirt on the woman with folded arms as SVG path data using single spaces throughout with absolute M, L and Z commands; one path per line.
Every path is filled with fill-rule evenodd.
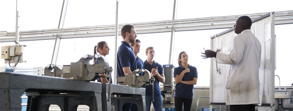
M 196 67 L 188 64 L 188 68 L 190 69 L 190 72 L 184 74 L 182 81 L 192 81 L 194 77 L 197 78 Z M 182 67 L 182 65 L 176 67 L 174 69 L 174 77 L 176 77 L 176 75 L 180 75 L 183 72 L 183 70 L 185 70 L 185 68 Z M 174 97 L 193 99 L 193 88 L 193 85 L 183 84 L 179 82 L 175 86 Z

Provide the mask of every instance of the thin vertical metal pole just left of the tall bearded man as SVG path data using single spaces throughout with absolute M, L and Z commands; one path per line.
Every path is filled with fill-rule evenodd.
M 119 32 L 119 28 L 118 28 L 118 1 L 116 0 L 116 20 L 115 20 L 115 57 L 114 57 L 114 82 L 113 84 L 116 84 L 116 77 L 117 77 L 117 73 L 116 73 L 116 68 L 117 68 L 117 37 L 118 37 L 118 32 Z

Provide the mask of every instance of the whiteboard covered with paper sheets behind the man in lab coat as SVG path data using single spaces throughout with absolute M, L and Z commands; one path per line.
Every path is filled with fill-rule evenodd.
M 275 18 L 274 12 L 267 13 L 252 20 L 251 32 L 258 38 L 262 45 L 261 66 L 260 66 L 260 100 L 261 103 L 272 103 L 274 100 L 274 69 L 275 63 Z M 211 48 L 216 51 L 220 49 L 219 53 L 230 52 L 231 43 L 237 34 L 234 33 L 233 28 L 216 34 L 211 37 Z M 272 46 L 272 47 L 271 47 Z M 272 53 L 271 53 L 272 52 Z M 272 60 L 273 59 L 273 60 Z M 220 74 L 216 70 L 219 69 Z M 229 74 L 230 65 L 219 64 L 211 58 L 211 72 L 210 72 L 210 103 L 225 103 L 226 96 L 226 82 Z M 272 69 L 272 70 L 271 70 Z

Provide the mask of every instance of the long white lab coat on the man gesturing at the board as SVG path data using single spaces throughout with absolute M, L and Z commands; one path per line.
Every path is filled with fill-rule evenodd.
M 261 45 L 250 29 L 232 41 L 229 54 L 217 53 L 216 63 L 230 64 L 226 105 L 258 104 Z

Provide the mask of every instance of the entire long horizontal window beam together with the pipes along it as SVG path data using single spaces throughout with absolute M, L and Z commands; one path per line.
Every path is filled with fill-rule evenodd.
M 253 18 L 257 18 L 256 15 L 264 15 L 260 14 L 248 14 L 253 16 Z M 184 19 L 184 20 L 167 20 L 167 21 L 158 21 L 158 22 L 145 22 L 145 23 L 135 23 L 137 34 L 147 34 L 147 33 L 159 33 L 159 32 L 171 32 L 172 26 L 174 26 L 174 30 L 176 31 L 191 31 L 191 30 L 209 30 L 209 29 L 222 29 L 222 28 L 231 28 L 233 27 L 235 18 L 227 19 L 226 17 L 231 16 L 223 16 L 223 17 L 210 17 L 213 18 L 225 18 L 223 23 L 215 23 L 211 24 L 208 18 L 195 18 L 195 19 Z M 208 19 L 208 20 L 204 20 Z M 235 19 L 235 20 L 234 20 Z M 275 25 L 281 24 L 292 24 L 293 23 L 293 11 L 282 11 L 275 12 Z M 151 24 L 151 25 L 147 25 Z M 155 24 L 155 25 L 153 25 Z M 173 25 L 172 25 L 173 24 Z M 122 26 L 125 24 L 119 25 L 119 30 L 121 30 Z M 65 29 L 52 29 L 52 30 L 61 30 L 55 31 L 51 34 L 40 34 L 35 35 L 36 31 L 21 31 L 19 41 L 32 41 L 32 40 L 47 40 L 47 39 L 56 39 L 57 33 L 63 33 L 62 35 L 58 35 L 60 39 L 65 38 L 74 38 L 74 34 L 76 33 L 76 38 L 81 37 L 101 37 L 101 36 L 114 36 L 115 35 L 115 25 L 107 25 L 107 26 L 94 26 L 94 27 L 77 27 L 81 32 L 70 32 L 70 30 L 74 30 L 76 28 L 65 28 Z M 88 29 L 87 29 L 88 28 Z M 92 29 L 92 31 L 89 31 Z M 50 31 L 50 30 L 42 30 Z M 63 31 L 63 32 L 62 32 Z M 3 32 L 3 31 L 2 31 Z M 39 31 L 40 32 L 40 31 Z M 45 32 L 44 32 L 45 33 Z M 14 36 L 13 36 L 14 34 Z M 24 36 L 23 34 L 27 34 Z M 9 36 L 7 36 L 9 35 Z M 11 39 L 13 38 L 13 39 Z M 12 42 L 15 39 L 15 32 L 5 32 L 0 34 L 0 42 Z

